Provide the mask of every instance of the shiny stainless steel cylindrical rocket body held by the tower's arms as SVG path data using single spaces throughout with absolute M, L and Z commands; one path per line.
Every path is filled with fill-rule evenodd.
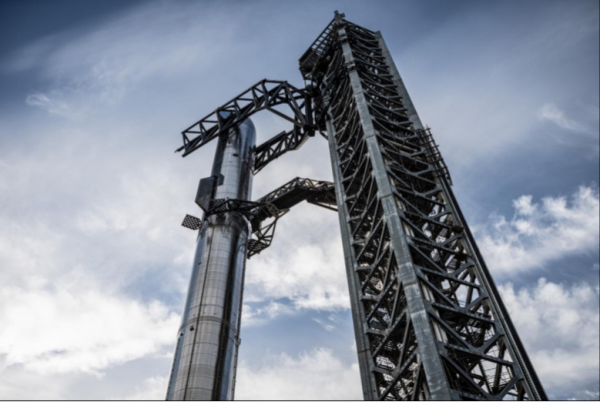
M 223 181 L 214 199 L 250 199 L 255 138 L 250 120 L 219 138 L 212 175 Z M 203 220 L 167 400 L 234 397 L 248 236 L 237 212 Z

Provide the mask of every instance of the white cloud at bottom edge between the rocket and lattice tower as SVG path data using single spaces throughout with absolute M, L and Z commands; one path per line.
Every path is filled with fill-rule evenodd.
M 361 400 L 358 364 L 348 365 L 329 349 L 314 349 L 297 358 L 267 355 L 260 365 L 242 361 L 236 399 Z

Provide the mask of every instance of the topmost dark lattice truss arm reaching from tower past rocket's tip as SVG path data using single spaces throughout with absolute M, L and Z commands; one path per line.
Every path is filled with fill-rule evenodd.
M 184 151 L 183 156 L 187 156 L 217 138 L 220 133 L 227 133 L 231 129 L 235 129 L 244 120 L 261 110 L 269 110 L 294 124 L 294 129 L 291 131 L 294 133 L 292 144 L 295 144 L 293 149 L 297 149 L 307 136 L 314 135 L 312 95 L 309 92 L 307 89 L 298 89 L 287 81 L 262 80 L 185 129 L 181 133 L 183 145 L 176 152 Z M 279 105 L 289 106 L 291 116 L 275 109 Z M 279 134 L 271 140 L 275 141 L 273 143 L 275 148 L 277 143 L 275 139 L 283 134 Z M 287 138 L 287 136 L 284 137 Z M 267 141 L 258 148 L 270 149 L 271 145 L 268 144 L 271 141 Z M 290 143 L 290 141 L 283 142 Z M 274 152 L 267 152 L 265 155 L 271 155 L 271 157 L 266 157 L 266 159 L 270 161 L 287 151 L 288 148 L 291 149 L 291 147 L 286 147 L 281 152 L 283 148 L 280 147 L 276 148 Z

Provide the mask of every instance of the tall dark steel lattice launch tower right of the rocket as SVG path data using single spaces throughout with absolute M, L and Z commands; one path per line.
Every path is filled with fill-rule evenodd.
M 325 106 L 365 399 L 546 399 L 381 36 L 336 14 L 300 65 Z

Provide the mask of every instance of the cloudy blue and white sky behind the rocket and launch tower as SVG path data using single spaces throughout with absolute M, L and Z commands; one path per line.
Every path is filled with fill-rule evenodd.
M 553 399 L 599 398 L 597 1 L 0 1 L 0 399 L 164 399 L 215 144 L 180 132 L 380 30 Z M 287 123 L 253 117 L 258 143 Z M 331 180 L 316 136 L 254 179 Z M 248 261 L 238 399 L 360 399 L 338 218 Z

